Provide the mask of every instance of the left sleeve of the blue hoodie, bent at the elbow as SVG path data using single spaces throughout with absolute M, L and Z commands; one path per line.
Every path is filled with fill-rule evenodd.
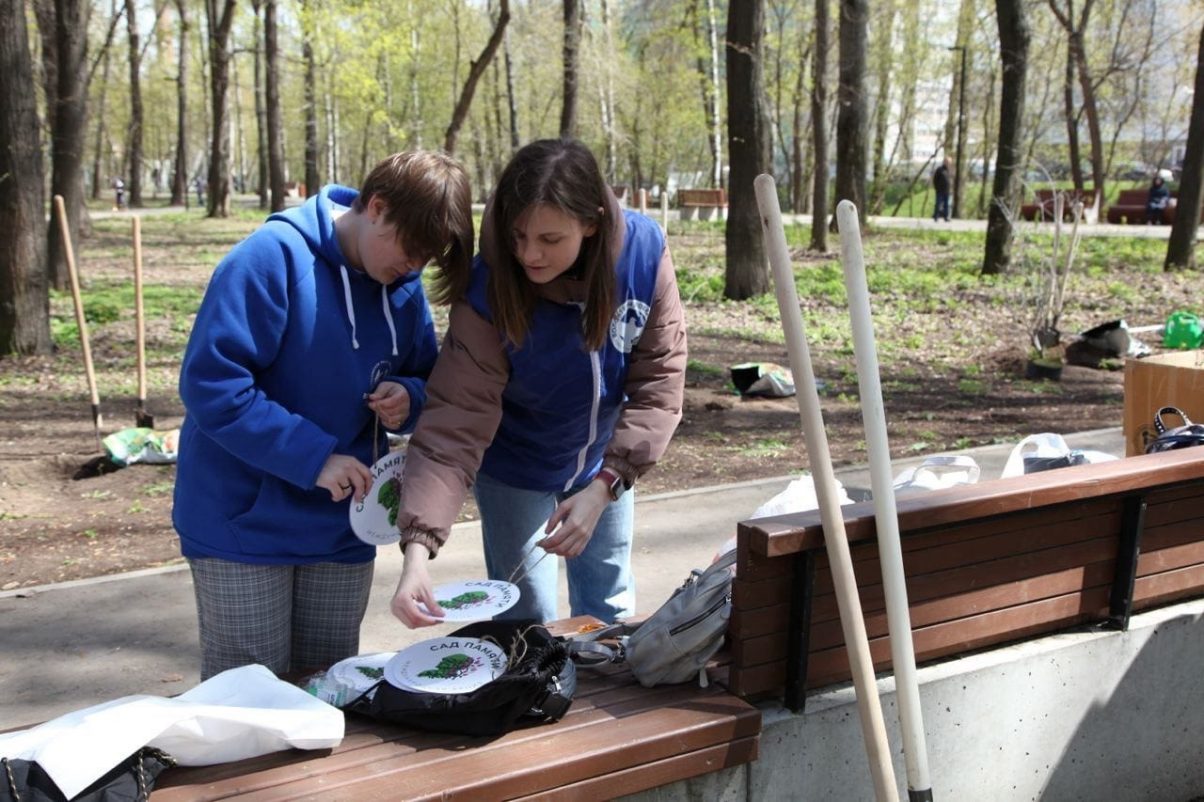
M 213 273 L 179 371 L 179 395 L 201 431 L 240 460 L 312 488 L 337 440 L 270 399 L 258 373 L 276 359 L 289 319 L 281 246 L 254 235 Z M 306 381 L 299 378 L 299 381 Z

